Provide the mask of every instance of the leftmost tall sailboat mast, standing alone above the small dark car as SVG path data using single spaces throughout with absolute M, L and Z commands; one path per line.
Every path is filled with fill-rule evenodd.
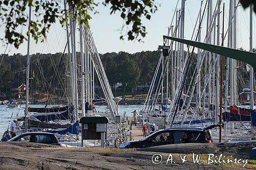
M 27 50 L 27 75 L 26 75 L 26 110 L 25 110 L 25 130 L 28 132 L 28 120 L 27 115 L 29 112 L 29 70 L 30 70 L 30 58 L 29 58 L 29 45 L 30 45 L 30 21 L 31 21 L 31 7 L 29 7 L 29 27 L 28 27 L 28 50 Z

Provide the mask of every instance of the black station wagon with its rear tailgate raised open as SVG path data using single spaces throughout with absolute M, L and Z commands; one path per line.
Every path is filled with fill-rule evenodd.
M 223 123 L 199 128 L 170 128 L 157 131 L 142 140 L 120 144 L 119 148 L 147 148 L 173 143 L 211 143 L 209 129 L 224 126 Z

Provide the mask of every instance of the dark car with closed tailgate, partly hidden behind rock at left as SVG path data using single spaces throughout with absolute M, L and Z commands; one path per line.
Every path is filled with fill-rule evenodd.
M 45 143 L 45 144 L 56 144 L 59 145 L 59 139 L 53 133 L 47 132 L 26 132 L 19 134 L 10 140 L 20 141 L 20 142 L 35 142 L 35 143 Z

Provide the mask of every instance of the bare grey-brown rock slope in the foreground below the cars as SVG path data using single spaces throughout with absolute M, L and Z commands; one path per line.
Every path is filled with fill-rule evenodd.
M 0 142 L 0 169 L 245 169 L 214 164 L 168 163 L 168 153 L 214 153 L 228 154 L 238 158 L 248 158 L 256 143 L 202 144 L 189 143 L 165 145 L 137 150 L 60 148 L 55 145 Z M 164 147 L 164 148 L 163 148 Z M 161 153 L 164 160 L 152 163 L 152 156 Z

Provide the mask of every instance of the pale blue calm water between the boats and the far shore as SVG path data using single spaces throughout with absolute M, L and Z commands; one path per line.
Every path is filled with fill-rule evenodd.
M 34 105 L 31 107 L 44 107 L 43 105 Z M 119 105 L 119 113 L 122 115 L 126 112 L 126 115 L 132 115 L 132 111 L 141 110 L 143 105 Z M 24 115 L 25 105 L 22 105 L 20 108 L 11 108 L 6 105 L 0 105 L 0 138 L 2 138 L 3 133 L 7 130 L 10 122 L 18 116 Z M 107 112 L 108 109 L 106 106 L 97 106 L 97 111 Z M 11 117 L 12 116 L 12 117 Z

